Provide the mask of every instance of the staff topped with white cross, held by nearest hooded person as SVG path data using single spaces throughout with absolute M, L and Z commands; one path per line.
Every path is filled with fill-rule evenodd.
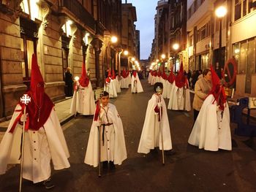
M 20 97 L 20 102 L 25 104 L 23 115 L 26 115 L 26 105 L 29 104 L 31 101 L 31 97 L 28 94 L 24 94 L 22 97 Z M 25 125 L 26 121 L 23 122 L 23 131 L 22 131 L 22 144 L 21 144 L 21 158 L 20 158 L 20 192 L 21 192 L 21 185 L 22 185 L 22 174 L 23 174 L 23 153 L 24 153 L 24 137 L 25 137 Z

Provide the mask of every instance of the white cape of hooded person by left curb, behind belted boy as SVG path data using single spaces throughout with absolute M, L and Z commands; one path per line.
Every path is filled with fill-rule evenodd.
M 91 82 L 86 88 L 83 88 L 78 82 L 78 91 L 74 91 L 70 113 L 76 114 L 79 112 L 82 115 L 94 115 L 94 110 L 94 91 L 91 88 Z

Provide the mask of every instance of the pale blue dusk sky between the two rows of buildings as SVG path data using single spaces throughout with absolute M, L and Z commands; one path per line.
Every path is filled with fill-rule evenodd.
M 125 3 L 125 0 L 122 0 Z M 154 15 L 157 13 L 157 0 L 127 0 L 136 7 L 136 29 L 140 30 L 140 59 L 147 59 L 154 39 Z

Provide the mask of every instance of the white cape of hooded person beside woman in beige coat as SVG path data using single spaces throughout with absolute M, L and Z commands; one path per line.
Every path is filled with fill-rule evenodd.
M 214 102 L 214 104 L 213 104 Z M 200 109 L 200 112 L 189 136 L 189 144 L 200 149 L 217 151 L 232 150 L 230 134 L 230 112 L 227 103 L 225 110 L 217 112 L 214 96 L 209 95 Z

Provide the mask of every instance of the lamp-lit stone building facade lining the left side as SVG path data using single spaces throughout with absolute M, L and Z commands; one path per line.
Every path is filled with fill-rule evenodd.
M 121 0 L 0 0 L 0 119 L 29 88 L 33 53 L 53 101 L 65 98 L 67 67 L 80 77 L 83 62 L 102 87 L 115 62 L 111 35 L 121 37 Z

